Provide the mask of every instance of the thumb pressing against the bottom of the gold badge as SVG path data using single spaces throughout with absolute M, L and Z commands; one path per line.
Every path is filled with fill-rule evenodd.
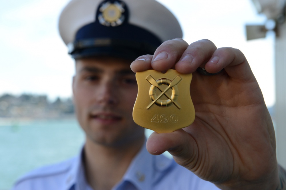
M 192 169 L 198 159 L 194 138 L 182 129 L 171 133 L 153 132 L 147 140 L 146 148 L 153 155 L 168 151 L 178 164 L 187 169 Z

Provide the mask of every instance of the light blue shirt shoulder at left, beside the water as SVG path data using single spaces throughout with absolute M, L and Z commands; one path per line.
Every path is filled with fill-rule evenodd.
M 15 185 L 14 189 L 52 189 L 51 184 L 61 186 L 65 178 L 68 178 L 68 174 L 72 169 L 77 157 L 70 158 L 63 162 L 56 164 L 43 166 L 20 177 Z

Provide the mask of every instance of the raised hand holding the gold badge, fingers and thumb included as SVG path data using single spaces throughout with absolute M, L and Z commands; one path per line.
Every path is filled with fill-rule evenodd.
M 205 76 L 196 71 L 205 68 Z M 194 123 L 172 133 L 153 132 L 147 150 L 175 161 L 221 189 L 275 189 L 279 183 L 273 124 L 259 85 L 240 50 L 209 40 L 164 42 L 131 64 L 134 72 L 176 69 L 193 73 Z

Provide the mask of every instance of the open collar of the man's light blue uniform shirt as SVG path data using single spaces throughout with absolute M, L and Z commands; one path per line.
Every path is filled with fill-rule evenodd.
M 145 142 L 130 163 L 127 171 L 120 183 L 118 183 L 113 189 L 120 189 L 120 185 L 129 182 L 132 183 L 138 190 L 152 189 L 154 181 L 156 181 L 156 173 L 165 171 L 173 163 L 174 160 L 166 158 L 164 155 L 154 156 L 146 150 Z M 91 189 L 88 185 L 85 177 L 83 166 L 84 146 L 82 147 L 80 154 L 76 156 L 72 163 L 70 170 L 66 177 L 66 190 L 86 190 Z

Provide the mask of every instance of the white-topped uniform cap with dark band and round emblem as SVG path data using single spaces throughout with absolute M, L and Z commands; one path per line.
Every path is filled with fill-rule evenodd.
M 59 17 L 59 33 L 74 58 L 134 54 L 133 59 L 182 38 L 177 19 L 155 0 L 72 0 Z

